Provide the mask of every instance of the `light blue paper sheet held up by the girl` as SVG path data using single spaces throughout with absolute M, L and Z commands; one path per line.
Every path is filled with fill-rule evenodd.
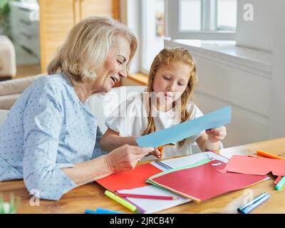
M 212 113 L 207 113 L 206 115 L 194 120 L 188 120 L 170 128 L 138 137 L 135 140 L 140 147 L 158 147 L 160 145 L 178 142 L 191 137 L 202 130 L 219 128 L 222 125 L 227 125 L 231 122 L 231 116 L 232 108 L 231 106 L 227 106 L 225 108 L 215 110 Z

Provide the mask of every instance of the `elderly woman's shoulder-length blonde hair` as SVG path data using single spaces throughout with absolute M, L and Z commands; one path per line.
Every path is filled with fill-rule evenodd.
M 118 35 L 130 43 L 130 61 L 138 47 L 138 39 L 125 25 L 108 17 L 90 16 L 78 22 L 58 48 L 48 64 L 48 74 L 62 72 L 73 85 L 83 77 L 94 77 L 95 69 L 103 66 L 108 52 Z M 127 69 L 130 66 L 127 64 Z

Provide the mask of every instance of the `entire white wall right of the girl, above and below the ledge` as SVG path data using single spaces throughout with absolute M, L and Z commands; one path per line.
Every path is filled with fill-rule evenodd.
M 260 66 L 271 66 L 270 71 L 258 66 L 252 70 L 255 61 L 247 55 L 242 56 L 246 62 L 241 64 L 237 58 L 234 64 L 231 56 L 222 58 L 212 51 L 187 47 L 197 59 L 195 101 L 199 108 L 208 113 L 232 105 L 226 147 L 285 137 L 285 1 L 238 2 L 238 48 L 247 47 L 244 50 L 249 52 L 258 49 Z M 247 3 L 254 6 L 252 22 L 243 19 L 243 4 Z M 172 46 L 171 42 L 165 43 Z M 267 56 L 267 61 L 262 56 Z

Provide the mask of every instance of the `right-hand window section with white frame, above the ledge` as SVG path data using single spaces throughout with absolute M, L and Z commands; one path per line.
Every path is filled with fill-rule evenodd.
M 237 0 L 168 0 L 167 36 L 234 40 Z

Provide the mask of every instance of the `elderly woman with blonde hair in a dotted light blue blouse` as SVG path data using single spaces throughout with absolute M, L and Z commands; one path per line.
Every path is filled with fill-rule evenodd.
M 58 200 L 74 187 L 131 170 L 152 147 L 124 145 L 108 155 L 86 100 L 127 76 L 137 39 L 123 24 L 89 17 L 76 24 L 48 73 L 29 86 L 0 128 L 0 181 L 24 179 L 29 192 Z

